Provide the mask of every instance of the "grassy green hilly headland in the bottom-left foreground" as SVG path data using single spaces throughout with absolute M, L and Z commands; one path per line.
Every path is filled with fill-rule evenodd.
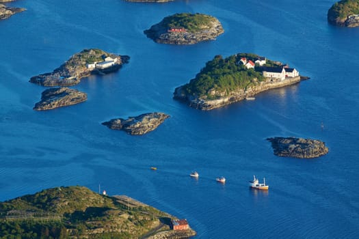
M 49 188 L 0 202 L 0 238 L 189 238 L 186 220 L 124 195 L 83 186 Z M 158 234 L 158 236 L 157 236 Z

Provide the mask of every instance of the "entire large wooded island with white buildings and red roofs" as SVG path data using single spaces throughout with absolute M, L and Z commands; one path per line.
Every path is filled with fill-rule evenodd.
M 174 99 L 211 110 L 302 79 L 308 77 L 300 76 L 295 68 L 255 54 L 238 53 L 225 59 L 216 55 L 196 78 L 174 90 Z

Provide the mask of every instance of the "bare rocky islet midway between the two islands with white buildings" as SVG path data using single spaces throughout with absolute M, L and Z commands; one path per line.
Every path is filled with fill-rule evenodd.
M 102 124 L 113 130 L 124 130 L 130 135 L 144 135 L 147 132 L 155 130 L 165 119 L 170 117 L 165 113 L 144 113 L 128 119 L 111 119 Z

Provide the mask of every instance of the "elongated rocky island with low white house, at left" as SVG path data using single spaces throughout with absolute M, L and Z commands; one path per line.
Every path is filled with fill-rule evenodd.
M 128 61 L 129 56 L 126 55 L 114 55 L 100 49 L 85 49 L 72 55 L 53 72 L 31 77 L 30 82 L 49 87 L 77 85 L 83 77 L 114 72 Z

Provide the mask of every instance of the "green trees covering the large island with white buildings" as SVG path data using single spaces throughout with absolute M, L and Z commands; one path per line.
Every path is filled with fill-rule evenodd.
M 258 68 L 248 69 L 243 64 L 239 64 L 241 57 L 254 62 L 259 56 L 239 53 L 223 58 L 221 55 L 216 55 L 213 60 L 207 62 L 195 79 L 183 85 L 183 91 L 187 95 L 215 99 L 228 96 L 230 92 L 246 89 L 264 81 L 265 77 L 261 70 L 257 70 Z M 263 66 L 274 67 L 279 65 L 280 63 L 267 59 Z

